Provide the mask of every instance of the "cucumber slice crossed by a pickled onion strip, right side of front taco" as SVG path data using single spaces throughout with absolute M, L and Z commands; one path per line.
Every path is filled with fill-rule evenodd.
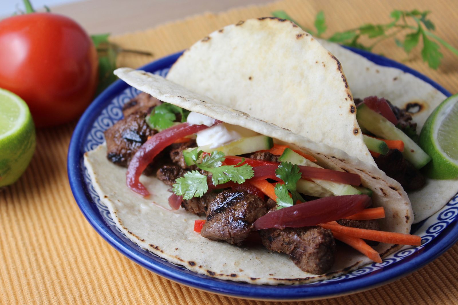
M 321 166 L 313 163 L 310 160 L 305 159 L 303 156 L 299 155 L 298 153 L 296 153 L 295 151 L 289 148 L 284 150 L 283 154 L 278 158 L 278 161 L 291 162 L 292 164 L 297 164 L 297 165 L 313 166 L 313 167 L 322 168 Z M 300 179 L 299 181 L 301 180 L 303 179 Z M 357 190 L 356 188 L 352 187 L 349 184 L 337 183 L 337 182 L 332 182 L 332 181 L 327 181 L 327 180 L 322 180 L 322 179 L 312 179 L 312 180 L 318 186 L 326 189 L 327 191 L 334 194 L 335 196 L 361 194 L 359 190 Z

